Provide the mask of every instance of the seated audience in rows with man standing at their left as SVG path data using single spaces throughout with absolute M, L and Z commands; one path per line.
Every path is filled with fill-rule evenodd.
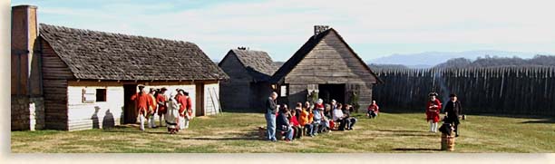
M 287 104 L 277 105 L 277 93 L 272 92 L 266 101 L 266 135 L 268 140 L 277 141 L 276 133 L 279 132 L 283 133 L 286 141 L 291 141 L 328 132 L 337 123 L 337 130 L 353 130 L 356 119 L 351 116 L 351 111 L 349 104 L 344 106 L 335 100 L 331 104 L 324 104 L 322 99 L 314 104 L 309 101 L 305 104 L 297 102 L 295 109 L 289 109 Z

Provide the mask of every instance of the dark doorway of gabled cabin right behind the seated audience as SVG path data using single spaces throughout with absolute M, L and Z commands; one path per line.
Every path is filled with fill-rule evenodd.
M 318 84 L 318 98 L 322 99 L 325 103 L 331 103 L 331 100 L 345 103 L 345 86 L 345 83 Z

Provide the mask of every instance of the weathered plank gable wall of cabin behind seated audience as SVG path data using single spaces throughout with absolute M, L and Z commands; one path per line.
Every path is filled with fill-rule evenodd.
M 297 66 L 287 74 L 285 83 L 289 84 L 288 105 L 297 101 L 307 101 L 309 84 L 350 84 L 356 85 L 360 109 L 365 109 L 372 101 L 372 86 L 375 76 L 365 69 L 356 54 L 336 33 L 329 33 L 310 51 Z M 348 89 L 346 88 L 346 91 Z M 350 94 L 346 92 L 348 101 Z M 360 110 L 359 109 L 359 110 Z

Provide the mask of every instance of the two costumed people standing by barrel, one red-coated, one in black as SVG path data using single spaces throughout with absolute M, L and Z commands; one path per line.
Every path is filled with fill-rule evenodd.
M 426 121 L 430 122 L 430 132 L 437 132 L 438 122 L 440 121 L 440 112 L 442 111 L 442 102 L 439 101 L 437 93 L 431 92 L 429 94 L 430 101 L 426 105 Z M 444 107 L 445 117 L 443 122 L 453 125 L 453 131 L 455 132 L 455 137 L 459 137 L 459 116 L 463 111 L 461 102 L 458 101 L 456 94 L 449 95 L 450 101 Z

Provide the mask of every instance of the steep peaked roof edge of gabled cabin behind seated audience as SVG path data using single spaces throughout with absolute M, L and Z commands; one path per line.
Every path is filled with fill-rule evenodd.
M 283 82 L 287 74 L 291 72 L 297 66 L 298 63 L 300 63 L 303 59 L 305 59 L 307 54 L 310 53 L 312 49 L 314 49 L 314 47 L 316 47 L 316 45 L 320 43 L 322 39 L 326 37 L 327 34 L 330 34 L 330 33 L 335 33 L 339 37 L 339 40 L 346 44 L 347 49 L 351 53 L 355 54 L 356 59 L 358 59 L 358 62 L 364 65 L 366 71 L 370 72 L 372 75 L 375 76 L 375 79 L 377 80 L 377 82 L 384 83 L 382 80 L 380 80 L 380 78 L 377 77 L 375 72 L 370 70 L 370 67 L 368 67 L 368 65 L 360 58 L 360 56 L 358 56 L 358 54 L 355 53 L 355 51 L 351 48 L 351 46 L 349 46 L 349 44 L 345 42 L 343 37 L 341 37 L 341 35 L 339 35 L 336 32 L 336 30 L 333 28 L 330 28 L 322 33 L 310 36 L 310 38 L 308 38 L 307 43 L 303 44 L 303 46 L 301 46 L 297 50 L 297 52 L 293 54 L 293 56 L 291 56 L 291 58 L 289 58 L 289 60 L 287 60 L 286 63 L 284 63 L 281 67 L 279 67 L 279 69 L 272 75 L 272 77 L 270 78 L 270 82 L 274 82 L 274 83 Z

